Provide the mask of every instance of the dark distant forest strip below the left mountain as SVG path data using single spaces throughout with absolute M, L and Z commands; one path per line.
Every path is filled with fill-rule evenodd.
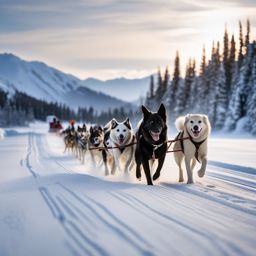
M 98 112 L 93 107 L 71 109 L 64 104 L 48 103 L 15 91 L 9 95 L 0 89 L 0 126 L 27 125 L 34 120 L 45 121 L 48 115 L 56 115 L 60 120 L 74 119 L 78 122 L 105 125 L 113 117 L 124 120 L 127 116 L 135 117 L 137 112 L 132 109 L 114 108 Z

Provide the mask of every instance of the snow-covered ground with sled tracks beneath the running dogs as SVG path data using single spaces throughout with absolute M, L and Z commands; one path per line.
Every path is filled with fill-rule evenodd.
M 256 140 L 211 138 L 206 177 L 105 177 L 37 123 L 0 140 L 0 255 L 255 255 Z

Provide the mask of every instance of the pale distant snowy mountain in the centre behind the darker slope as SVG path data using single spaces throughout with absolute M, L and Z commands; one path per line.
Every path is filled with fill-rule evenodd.
M 107 81 L 88 78 L 83 81 L 83 84 L 94 91 L 103 92 L 124 101 L 134 102 L 139 97 L 145 97 L 147 94 L 150 77 L 147 76 L 141 79 L 116 78 Z

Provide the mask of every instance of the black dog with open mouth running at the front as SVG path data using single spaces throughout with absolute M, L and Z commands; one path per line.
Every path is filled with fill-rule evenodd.
M 160 176 L 167 150 L 166 110 L 163 104 L 156 113 L 150 112 L 143 105 L 141 108 L 144 117 L 136 134 L 136 177 L 137 179 L 141 178 L 140 166 L 142 164 L 148 185 L 153 185 L 149 160 L 158 159 L 158 167 L 153 175 L 153 180 L 156 180 Z

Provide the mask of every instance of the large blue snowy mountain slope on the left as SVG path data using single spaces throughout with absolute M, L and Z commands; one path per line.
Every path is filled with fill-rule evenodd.
M 38 61 L 25 61 L 13 54 L 0 54 L 0 88 L 25 92 L 47 102 L 77 108 L 93 106 L 106 110 L 127 104 L 86 88 L 83 81 Z

